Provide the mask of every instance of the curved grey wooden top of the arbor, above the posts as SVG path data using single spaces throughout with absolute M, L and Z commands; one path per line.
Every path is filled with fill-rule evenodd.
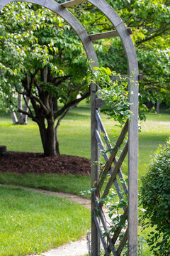
M 137 55 L 135 52 L 134 44 L 132 43 L 132 38 L 130 37 L 130 28 L 125 27 L 123 20 L 105 0 L 88 0 L 87 2 L 96 6 L 96 8 L 105 14 L 105 16 L 115 27 L 115 31 L 98 33 L 94 35 L 89 35 L 86 32 L 84 26 L 82 26 L 82 24 L 77 20 L 77 18 L 67 10 L 68 7 L 84 3 L 86 0 L 72 0 L 66 1 L 62 4 L 57 3 L 55 0 L 0 0 L 0 9 L 12 2 L 29 2 L 38 4 L 47 9 L 50 9 L 51 11 L 54 11 L 56 14 L 64 18 L 64 20 L 67 21 L 67 23 L 69 23 L 69 25 L 74 29 L 81 42 L 83 43 L 84 49 L 86 50 L 86 55 L 91 63 L 92 68 L 98 66 L 98 60 L 92 41 L 119 36 L 125 48 L 125 53 L 128 60 L 128 75 L 133 75 L 133 77 L 138 76 Z

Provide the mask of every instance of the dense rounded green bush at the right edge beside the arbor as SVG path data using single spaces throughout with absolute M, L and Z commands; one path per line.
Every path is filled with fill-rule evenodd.
M 145 226 L 156 228 L 147 240 L 154 255 L 170 255 L 170 138 L 159 148 L 142 178 L 141 203 Z

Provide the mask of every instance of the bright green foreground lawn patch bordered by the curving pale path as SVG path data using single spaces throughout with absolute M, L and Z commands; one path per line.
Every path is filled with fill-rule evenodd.
M 64 198 L 0 186 L 0 205 L 1 256 L 40 253 L 90 228 L 90 211 Z

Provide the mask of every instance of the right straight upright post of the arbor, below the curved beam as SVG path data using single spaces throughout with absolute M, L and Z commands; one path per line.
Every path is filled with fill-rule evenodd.
M 137 256 L 138 77 L 130 80 L 132 114 L 128 127 L 128 256 Z

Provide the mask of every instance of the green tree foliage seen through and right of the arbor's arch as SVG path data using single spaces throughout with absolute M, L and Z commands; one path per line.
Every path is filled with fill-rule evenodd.
M 140 104 L 152 101 L 170 104 L 170 2 L 166 0 L 107 0 L 108 4 L 132 29 L 132 40 L 137 50 L 140 73 Z M 73 10 L 73 9 L 71 9 Z M 79 12 L 82 12 L 82 15 Z M 83 19 L 89 33 L 111 31 L 111 22 L 90 4 L 82 4 L 81 10 L 74 7 L 74 14 Z M 91 25 L 92 24 L 92 25 Z M 116 73 L 127 74 L 126 58 L 120 38 L 98 41 L 96 50 L 101 66 Z M 105 53 L 105 54 L 103 54 Z

